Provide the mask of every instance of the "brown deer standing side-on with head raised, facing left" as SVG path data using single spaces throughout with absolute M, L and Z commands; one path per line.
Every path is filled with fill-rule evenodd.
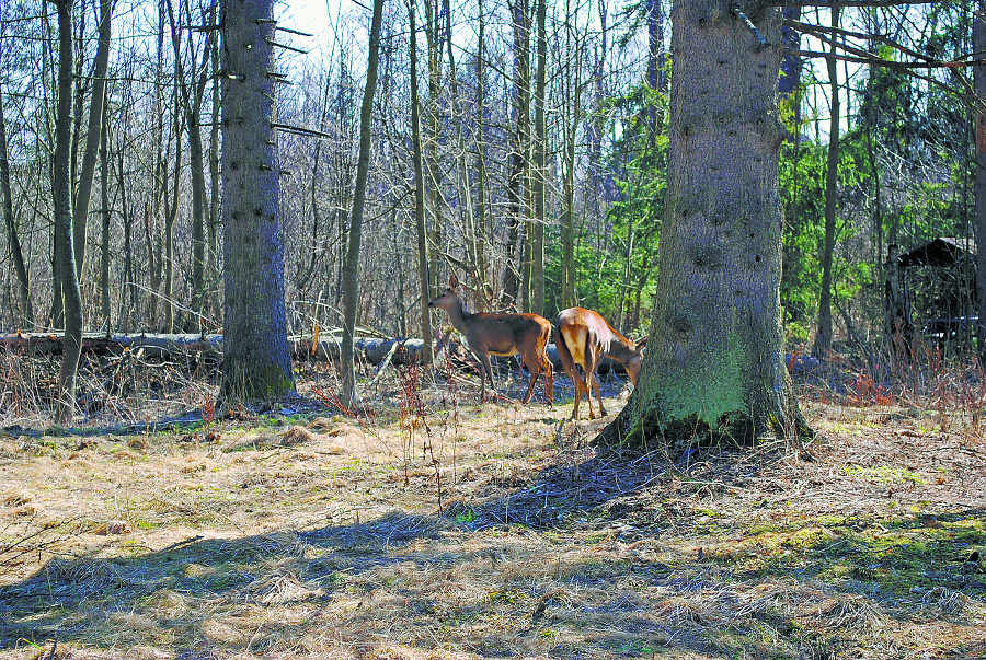
M 547 378 L 548 403 L 554 397 L 554 372 L 548 359 L 548 340 L 551 338 L 551 323 L 537 314 L 494 314 L 466 309 L 466 301 L 459 290 L 459 280 L 452 274 L 442 296 L 428 303 L 429 308 L 442 308 L 448 312 L 448 320 L 457 331 L 466 336 L 466 344 L 480 360 L 480 401 L 485 401 L 486 379 L 494 394 L 493 368 L 490 356 L 519 355 L 530 372 L 530 384 L 520 403 L 530 401 L 535 383 L 543 371 Z

